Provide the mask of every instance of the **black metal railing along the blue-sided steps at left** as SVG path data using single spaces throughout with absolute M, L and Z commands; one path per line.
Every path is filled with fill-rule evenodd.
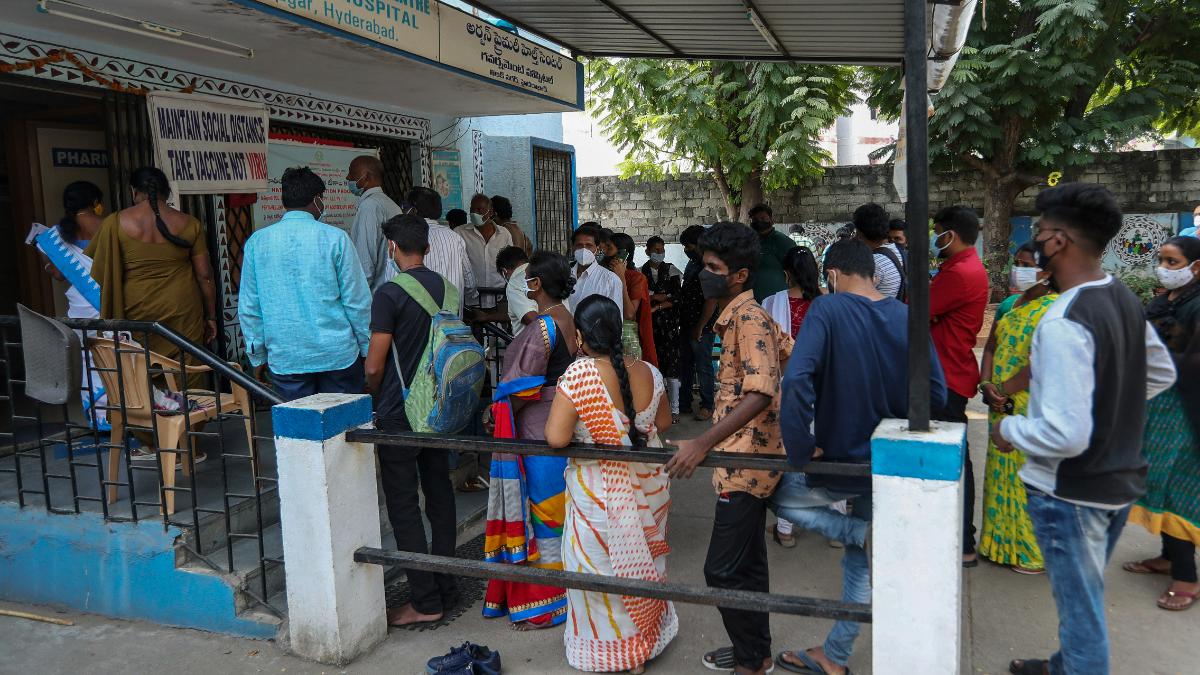
M 264 534 L 278 521 L 275 452 L 272 438 L 259 434 L 256 407 L 283 400 L 238 364 L 160 323 L 59 321 L 84 344 L 88 375 L 79 398 L 104 413 L 113 430 L 103 431 L 79 401 L 48 405 L 25 396 L 19 323 L 0 316 L 0 410 L 8 408 L 0 442 L 10 450 L 0 449 L 0 500 L 181 527 L 180 544 L 191 557 L 244 574 L 252 587 L 241 591 L 278 614 L 268 604 L 268 579 L 281 577 L 282 548 Z M 169 353 L 151 351 L 152 342 L 168 345 Z M 172 405 L 161 399 L 179 410 L 167 410 Z M 145 456 L 138 444 L 154 453 Z M 208 453 L 208 462 L 197 461 L 198 452 Z M 250 579 L 256 572 L 258 579 Z

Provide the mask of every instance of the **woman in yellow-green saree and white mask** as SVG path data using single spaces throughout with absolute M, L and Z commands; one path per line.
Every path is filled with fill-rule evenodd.
M 979 392 L 988 404 L 989 422 L 1025 414 L 1030 402 L 1030 348 L 1033 330 L 1058 297 L 1049 275 L 1038 269 L 1033 246 L 1022 245 L 1013 257 L 1009 281 L 1015 293 L 996 310 L 983 354 Z M 1025 484 L 1018 472 L 1025 455 L 1001 453 L 989 441 L 983 484 L 983 532 L 979 555 L 1021 574 L 1042 574 L 1045 565 L 1025 510 Z

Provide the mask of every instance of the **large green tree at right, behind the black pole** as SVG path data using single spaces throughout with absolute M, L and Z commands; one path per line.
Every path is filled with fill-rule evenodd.
M 1196 0 L 992 0 L 977 12 L 929 121 L 935 165 L 979 172 L 992 293 L 1007 288 L 1018 196 L 1093 153 L 1200 120 Z M 900 114 L 901 73 L 866 72 L 869 102 Z

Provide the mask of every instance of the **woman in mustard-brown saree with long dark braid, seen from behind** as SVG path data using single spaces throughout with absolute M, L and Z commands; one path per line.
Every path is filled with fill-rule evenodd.
M 216 285 L 204 226 L 167 205 L 167 177 L 142 167 L 130 177 L 133 205 L 104 219 L 85 251 L 95 259 L 100 316 L 157 321 L 192 342 L 217 334 Z M 151 334 L 150 350 L 175 357 L 166 338 Z M 199 387 L 197 375 L 190 387 Z

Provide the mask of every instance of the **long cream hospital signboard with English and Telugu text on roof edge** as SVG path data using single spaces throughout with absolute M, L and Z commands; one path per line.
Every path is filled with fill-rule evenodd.
M 524 91 L 581 107 L 578 61 L 437 0 L 256 0 Z

